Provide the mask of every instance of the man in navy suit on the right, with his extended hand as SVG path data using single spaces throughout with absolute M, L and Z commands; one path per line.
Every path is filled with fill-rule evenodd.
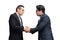
M 38 31 L 38 40 L 54 40 L 51 30 L 50 18 L 45 14 L 45 7 L 43 5 L 36 6 L 36 14 L 40 16 L 38 24 L 35 28 L 26 27 L 26 32 L 34 34 Z

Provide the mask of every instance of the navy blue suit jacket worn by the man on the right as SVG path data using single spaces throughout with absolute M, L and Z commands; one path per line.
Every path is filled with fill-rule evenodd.
M 38 31 L 38 40 L 53 40 L 50 19 L 46 14 L 41 16 L 36 28 L 31 28 L 30 33 Z

